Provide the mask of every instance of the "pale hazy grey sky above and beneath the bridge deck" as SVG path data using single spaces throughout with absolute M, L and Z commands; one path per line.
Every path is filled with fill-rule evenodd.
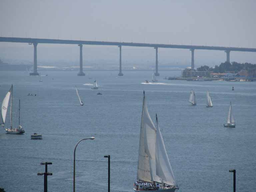
M 0 0 L 0 36 L 256 48 L 255 8 L 255 0 Z M 38 51 L 39 46 L 41 54 L 47 53 L 47 48 L 55 52 L 49 57 L 42 55 L 44 60 L 60 56 L 74 60 L 79 51 L 77 45 L 38 45 Z M 116 47 L 83 48 L 85 58 L 90 55 L 94 60 L 95 57 L 117 60 Z M 63 52 L 71 49 L 74 54 L 63 57 Z M 99 56 L 96 49 L 100 55 L 104 50 L 113 53 Z M 123 50 L 127 59 L 136 52 L 136 58 L 152 55 L 144 59 L 154 62 L 154 50 L 128 47 Z M 129 54 L 125 55 L 125 50 Z M 12 51 L 22 54 L 17 56 Z M 31 59 L 31 51 L 27 44 L 0 43 L 0 58 Z M 162 49 L 161 53 L 163 61 L 177 63 L 180 58 L 190 62 L 188 50 Z M 235 60 L 256 63 L 256 53 L 231 52 L 231 61 Z M 225 61 L 225 53 L 196 50 L 195 65 L 203 61 Z

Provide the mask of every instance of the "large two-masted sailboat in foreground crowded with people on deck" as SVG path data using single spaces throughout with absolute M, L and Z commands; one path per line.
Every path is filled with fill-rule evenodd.
M 148 113 L 143 92 L 137 181 L 134 191 L 174 192 L 178 189 L 166 152 L 157 116 L 156 127 Z

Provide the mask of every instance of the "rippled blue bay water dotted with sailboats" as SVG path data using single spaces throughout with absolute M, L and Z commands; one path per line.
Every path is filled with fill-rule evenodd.
M 237 191 L 256 191 L 256 82 L 189 82 L 163 80 L 178 72 L 160 71 L 159 82 L 150 71 L 0 72 L 0 100 L 13 84 L 14 124 L 21 99 L 24 135 L 0 130 L 0 187 L 7 192 L 43 191 L 44 166 L 49 161 L 48 191 L 72 191 L 73 151 L 76 150 L 76 191 L 107 191 L 107 158 L 111 155 L 111 191 L 133 191 L 137 175 L 138 143 L 145 90 L 149 113 L 158 114 L 167 153 L 180 192 L 232 191 L 237 170 Z M 89 79 L 91 77 L 92 79 Z M 116 77 L 118 77 L 116 79 Z M 98 91 L 92 90 L 94 78 Z M 85 85 L 84 85 L 85 84 Z M 79 105 L 77 86 L 84 106 Z M 232 86 L 235 90 L 231 91 Z M 188 102 L 195 90 L 197 105 Z M 206 108 L 210 90 L 212 108 Z M 36 96 L 27 96 L 35 93 Z M 224 128 L 232 101 L 236 128 Z M 7 127 L 10 125 L 9 114 Z M 43 140 L 31 140 L 34 132 Z

